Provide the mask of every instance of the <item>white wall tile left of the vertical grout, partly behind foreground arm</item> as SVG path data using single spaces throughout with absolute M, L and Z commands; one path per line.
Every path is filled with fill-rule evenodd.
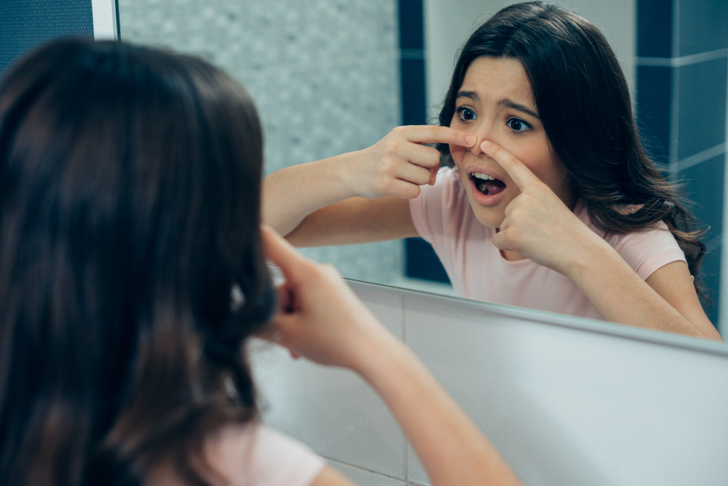
M 402 299 L 352 283 L 387 327 L 402 337 Z M 294 361 L 274 345 L 253 343 L 264 420 L 326 458 L 404 479 L 405 439 L 389 410 L 352 372 Z

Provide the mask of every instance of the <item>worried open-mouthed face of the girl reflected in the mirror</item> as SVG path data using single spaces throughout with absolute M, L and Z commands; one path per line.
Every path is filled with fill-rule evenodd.
M 518 157 L 573 208 L 566 168 L 550 150 L 519 60 L 481 57 L 472 61 L 456 96 L 450 126 L 478 139 L 470 149 L 451 145 L 450 152 L 480 223 L 499 227 L 506 206 L 521 193 L 505 169 L 480 151 L 485 140 Z

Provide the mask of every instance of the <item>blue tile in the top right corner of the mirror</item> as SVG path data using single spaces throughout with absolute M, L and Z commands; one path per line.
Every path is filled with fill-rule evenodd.
M 680 46 L 676 57 L 728 47 L 728 1 L 679 2 Z

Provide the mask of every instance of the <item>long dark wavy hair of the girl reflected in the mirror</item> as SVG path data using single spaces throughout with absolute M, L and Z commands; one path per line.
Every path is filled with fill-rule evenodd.
M 647 157 L 622 68 L 598 28 L 542 1 L 501 9 L 462 47 L 440 125 L 450 126 L 465 72 L 483 56 L 521 62 L 550 147 L 596 227 L 625 234 L 664 221 L 697 277 L 705 230 L 696 229 L 678 186 Z M 454 165 L 448 145 L 438 149 L 442 162 Z M 628 205 L 640 208 L 630 213 L 624 211 Z M 697 278 L 695 283 L 702 294 Z

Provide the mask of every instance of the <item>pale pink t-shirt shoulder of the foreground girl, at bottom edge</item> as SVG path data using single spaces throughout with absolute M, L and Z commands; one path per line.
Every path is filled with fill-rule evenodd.
M 234 486 L 309 486 L 325 466 L 304 444 L 257 423 L 223 428 L 205 454 Z

